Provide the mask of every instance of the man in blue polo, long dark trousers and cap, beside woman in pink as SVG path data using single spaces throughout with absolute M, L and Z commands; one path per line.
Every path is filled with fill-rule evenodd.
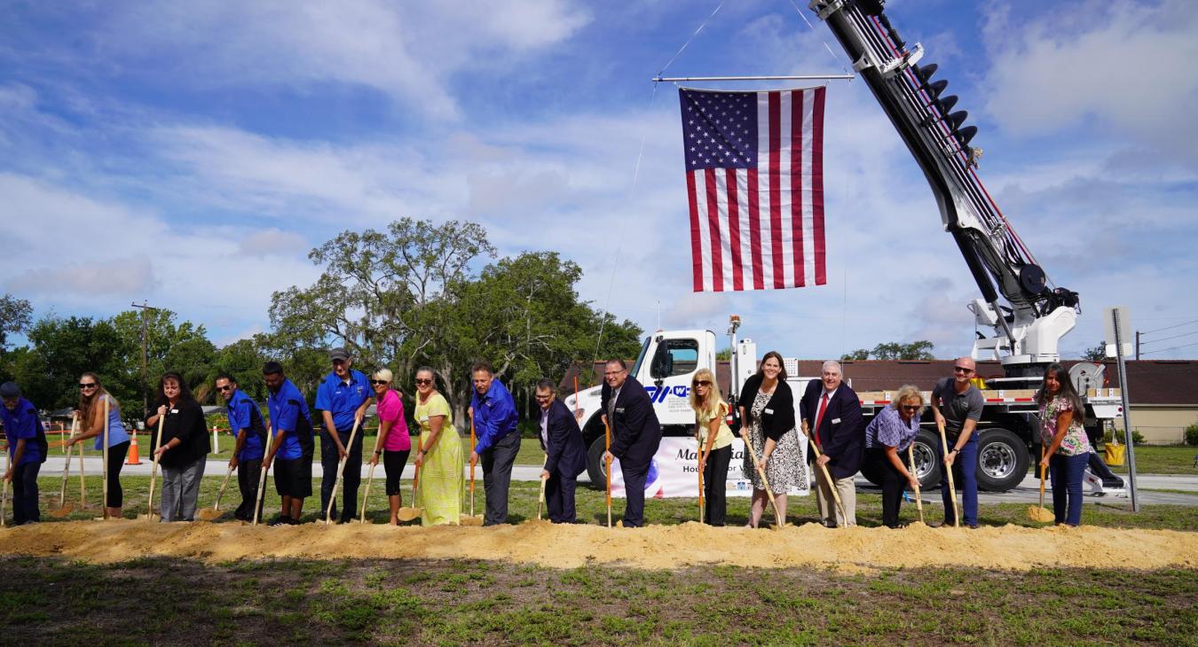
M 362 422 L 374 390 L 370 380 L 361 371 L 350 366 L 353 360 L 344 348 L 334 348 L 328 354 L 333 361 L 333 372 L 316 389 L 316 408 L 325 420 L 325 431 L 320 434 L 320 466 L 323 476 L 320 480 L 320 512 L 328 509 L 328 500 L 333 496 L 337 484 L 337 468 L 343 458 L 345 475 L 341 484 L 341 523 L 353 518 L 358 509 L 358 483 L 362 482 L 362 429 L 350 445 L 353 423 Z M 332 517 L 337 519 L 337 501 L 333 501 Z

